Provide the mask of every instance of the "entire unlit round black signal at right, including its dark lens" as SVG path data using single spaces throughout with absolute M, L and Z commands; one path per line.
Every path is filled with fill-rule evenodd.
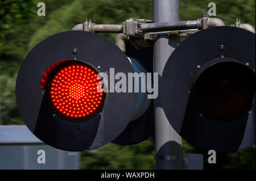
M 255 34 L 213 27 L 185 39 L 164 68 L 167 119 L 188 142 L 237 151 L 255 144 Z

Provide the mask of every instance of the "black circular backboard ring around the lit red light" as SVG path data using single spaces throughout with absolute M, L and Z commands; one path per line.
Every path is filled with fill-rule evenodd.
M 66 120 L 48 106 L 47 94 L 40 87 L 47 68 L 61 60 L 85 62 L 108 77 L 110 68 L 115 73 L 133 73 L 126 55 L 103 36 L 84 31 L 50 36 L 28 53 L 16 79 L 16 102 L 24 123 L 36 137 L 57 149 L 92 150 L 113 141 L 129 124 L 137 93 L 108 92 L 102 111 L 91 119 Z

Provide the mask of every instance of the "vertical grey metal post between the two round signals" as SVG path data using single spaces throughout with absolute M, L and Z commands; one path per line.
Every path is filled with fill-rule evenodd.
M 155 23 L 179 20 L 179 0 L 153 0 L 152 6 Z M 155 39 L 154 72 L 159 73 L 159 85 L 164 66 L 178 43 L 178 37 L 167 35 L 160 35 Z M 160 96 L 158 95 L 158 98 L 155 99 L 156 169 L 182 169 L 181 137 L 167 120 L 160 103 Z

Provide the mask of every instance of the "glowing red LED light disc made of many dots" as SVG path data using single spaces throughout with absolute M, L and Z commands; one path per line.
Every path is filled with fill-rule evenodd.
M 86 65 L 67 65 L 57 71 L 49 86 L 56 110 L 71 118 L 83 118 L 96 112 L 105 99 L 105 93 L 97 90 L 101 81 L 97 74 Z

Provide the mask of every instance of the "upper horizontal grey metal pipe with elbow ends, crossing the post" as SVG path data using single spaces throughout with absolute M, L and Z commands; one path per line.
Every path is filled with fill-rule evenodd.
M 178 21 L 174 23 L 142 23 L 141 19 L 129 19 L 123 24 L 95 24 L 85 21 L 82 24 L 77 24 L 72 30 L 101 32 L 101 33 L 124 33 L 127 35 L 141 35 L 144 32 L 161 32 L 175 30 L 190 30 L 203 27 L 225 26 L 225 23 L 218 18 L 204 17 L 197 20 Z M 204 23 L 207 23 L 206 26 Z

